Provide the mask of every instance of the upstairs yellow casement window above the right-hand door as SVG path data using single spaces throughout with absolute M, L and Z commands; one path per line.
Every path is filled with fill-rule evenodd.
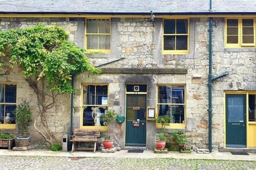
M 255 46 L 254 19 L 226 19 L 226 47 Z

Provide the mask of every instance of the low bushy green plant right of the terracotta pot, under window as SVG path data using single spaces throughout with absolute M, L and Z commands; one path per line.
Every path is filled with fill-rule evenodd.
M 190 149 L 186 149 L 187 134 L 182 131 L 172 131 L 173 140 L 179 145 L 181 153 L 191 153 Z

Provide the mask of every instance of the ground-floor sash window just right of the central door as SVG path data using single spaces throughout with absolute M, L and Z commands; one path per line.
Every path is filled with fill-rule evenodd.
M 180 127 L 185 127 L 185 96 L 185 85 L 158 85 L 158 115 L 169 115 L 170 125 L 179 124 Z

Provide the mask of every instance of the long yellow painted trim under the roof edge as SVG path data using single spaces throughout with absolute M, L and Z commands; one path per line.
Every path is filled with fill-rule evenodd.
M 237 18 L 248 18 L 255 15 L 156 15 L 155 18 L 183 18 L 183 17 L 237 17 Z M 136 18 L 148 18 L 150 17 L 150 14 L 148 15 L 79 15 L 79 14 L 0 14 L 0 17 L 90 17 L 95 19 L 101 19 L 102 17 L 121 17 L 121 18 L 130 18 L 130 17 L 136 17 Z

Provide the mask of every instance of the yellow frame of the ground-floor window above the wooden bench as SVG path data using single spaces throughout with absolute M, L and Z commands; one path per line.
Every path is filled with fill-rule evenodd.
M 106 85 L 106 86 L 108 86 L 108 92 L 107 92 L 108 93 L 108 101 L 107 101 L 107 104 L 84 104 L 84 101 L 83 101 L 83 89 L 84 89 L 84 86 L 86 86 L 86 85 L 94 85 L 94 86 Z M 96 88 L 95 88 L 95 92 L 96 92 Z M 95 97 L 95 100 L 96 100 L 96 97 Z M 81 129 L 100 129 L 101 131 L 108 131 L 108 125 L 107 126 L 83 126 L 83 108 L 85 106 L 106 106 L 108 108 L 108 104 L 109 104 L 109 84 L 90 84 L 90 83 L 87 84 L 87 83 L 82 83 L 81 84 L 80 128 Z

